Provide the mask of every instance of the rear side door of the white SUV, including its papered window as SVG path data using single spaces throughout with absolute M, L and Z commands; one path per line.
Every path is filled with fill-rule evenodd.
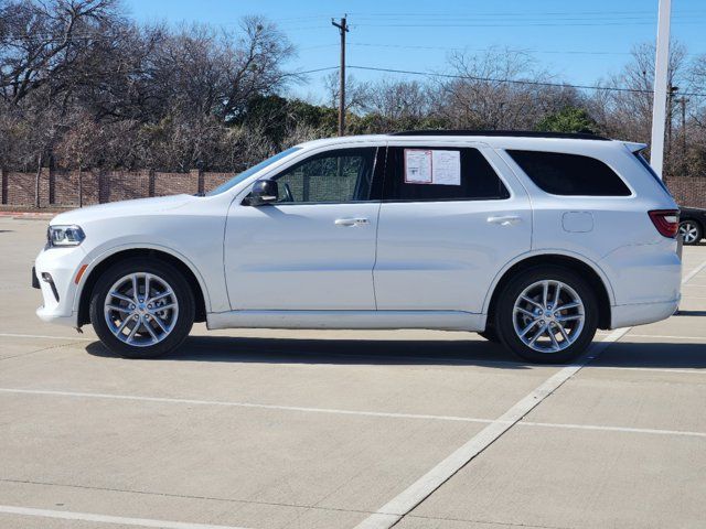
M 528 196 L 491 149 L 391 143 L 373 272 L 377 309 L 481 313 L 493 278 L 530 250 L 531 237 Z

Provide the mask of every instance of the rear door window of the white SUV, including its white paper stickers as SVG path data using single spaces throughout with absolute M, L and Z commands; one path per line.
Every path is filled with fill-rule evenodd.
M 427 160 L 429 164 L 425 166 Z M 419 164 L 419 168 L 415 164 Z M 386 168 L 384 201 L 438 202 L 510 197 L 507 188 L 478 149 L 391 147 Z M 417 169 L 420 169 L 419 173 Z

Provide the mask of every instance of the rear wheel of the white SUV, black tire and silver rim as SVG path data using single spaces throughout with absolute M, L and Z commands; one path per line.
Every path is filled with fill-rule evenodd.
M 567 306 L 558 312 L 552 306 L 557 285 L 561 287 L 558 305 Z M 598 327 L 596 293 L 580 276 L 563 267 L 537 267 L 517 273 L 503 287 L 494 312 L 494 327 L 502 344 L 520 358 L 537 364 L 577 358 L 588 348 Z M 554 333 L 539 333 L 545 326 Z M 523 332 L 526 334 L 521 337 Z

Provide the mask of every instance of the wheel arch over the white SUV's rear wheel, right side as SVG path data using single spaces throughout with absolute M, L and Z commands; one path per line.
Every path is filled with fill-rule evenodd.
M 485 298 L 483 312 L 489 315 L 488 321 L 491 321 L 498 296 L 510 279 L 522 270 L 542 264 L 560 266 L 580 273 L 593 288 L 598 298 L 598 327 L 610 328 L 611 305 L 613 304 L 614 295 L 608 278 L 593 262 L 581 259 L 575 255 L 561 252 L 525 255 L 507 263 L 495 276 L 489 294 Z

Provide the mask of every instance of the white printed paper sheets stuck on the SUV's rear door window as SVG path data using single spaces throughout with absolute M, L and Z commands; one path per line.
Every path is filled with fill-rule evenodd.
M 461 185 L 461 152 L 405 149 L 405 183 Z

